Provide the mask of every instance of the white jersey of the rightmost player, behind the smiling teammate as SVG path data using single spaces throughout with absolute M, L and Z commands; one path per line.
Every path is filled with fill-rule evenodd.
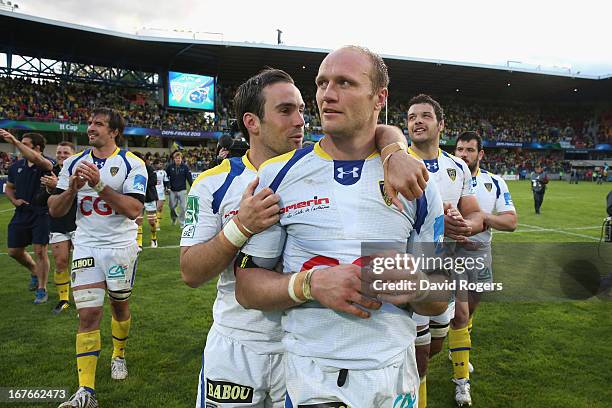
M 487 214 L 516 212 L 510 190 L 503 178 L 478 169 L 476 176 L 472 177 L 472 186 L 476 190 L 476 198 L 483 212 Z M 492 239 L 491 228 L 470 237 L 470 241 L 490 243 Z

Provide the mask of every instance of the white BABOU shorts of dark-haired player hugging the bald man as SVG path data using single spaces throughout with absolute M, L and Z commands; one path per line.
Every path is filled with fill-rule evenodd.
M 213 326 L 202 357 L 196 408 L 284 406 L 283 354 L 257 354 Z

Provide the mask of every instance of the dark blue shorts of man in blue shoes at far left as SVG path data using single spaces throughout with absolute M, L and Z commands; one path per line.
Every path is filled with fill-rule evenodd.
M 49 214 L 16 211 L 8 225 L 8 247 L 25 248 L 49 243 Z

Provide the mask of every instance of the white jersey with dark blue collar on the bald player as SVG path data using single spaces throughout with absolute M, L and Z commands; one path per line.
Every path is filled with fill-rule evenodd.
M 394 242 L 405 250 L 411 234 L 440 242 L 442 200 L 435 181 L 419 200 L 402 198 L 403 212 L 385 201 L 383 168 L 366 160 L 333 160 L 319 143 L 264 163 L 259 188 L 280 197 L 280 223 L 253 236 L 242 251 L 254 257 L 282 254 L 284 273 L 362 262 L 362 243 Z M 416 235 L 416 234 L 415 234 Z M 384 304 L 369 319 L 308 302 L 285 311 L 283 342 L 291 353 L 324 365 L 376 369 L 412 350 L 416 328 L 407 311 Z

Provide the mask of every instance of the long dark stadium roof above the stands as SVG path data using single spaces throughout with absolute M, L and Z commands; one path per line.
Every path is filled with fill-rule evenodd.
M 329 50 L 137 36 L 0 11 L 0 52 L 159 74 L 166 70 L 214 74 L 226 83 L 241 82 L 265 66 L 273 66 L 289 72 L 303 89 L 314 90 L 318 66 Z M 610 76 L 384 58 L 389 66 L 392 97 L 401 91 L 407 96 L 425 92 L 486 99 L 592 102 L 609 100 L 612 95 Z

